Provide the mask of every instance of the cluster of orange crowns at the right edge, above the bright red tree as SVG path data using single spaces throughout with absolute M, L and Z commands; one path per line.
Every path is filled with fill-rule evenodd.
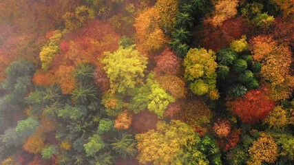
M 260 74 L 271 85 L 273 100 L 291 96 L 294 76 L 291 75 L 292 52 L 286 45 L 278 45 L 272 36 L 256 36 L 251 40 L 253 59 L 262 62 Z

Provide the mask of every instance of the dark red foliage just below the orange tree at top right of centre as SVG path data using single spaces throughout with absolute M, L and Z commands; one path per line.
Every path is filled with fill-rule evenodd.
M 202 35 L 200 45 L 217 52 L 223 47 L 227 47 L 233 40 L 239 39 L 248 30 L 246 19 L 242 17 L 228 19 L 218 27 L 214 27 L 210 23 L 204 23 L 204 30 L 200 33 L 200 36 Z

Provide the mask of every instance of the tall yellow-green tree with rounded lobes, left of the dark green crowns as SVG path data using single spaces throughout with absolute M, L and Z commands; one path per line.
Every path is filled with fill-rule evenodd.
M 209 94 L 213 100 L 218 99 L 218 94 L 213 97 L 211 94 L 216 89 L 216 54 L 204 48 L 190 49 L 184 60 L 185 78 L 191 80 L 191 91 L 193 94 L 202 96 Z

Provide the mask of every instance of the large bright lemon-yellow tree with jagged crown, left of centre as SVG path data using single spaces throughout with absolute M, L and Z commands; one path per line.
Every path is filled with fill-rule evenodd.
M 112 92 L 122 93 L 133 89 L 144 77 L 147 58 L 134 50 L 134 46 L 120 47 L 114 53 L 106 52 L 103 64 Z

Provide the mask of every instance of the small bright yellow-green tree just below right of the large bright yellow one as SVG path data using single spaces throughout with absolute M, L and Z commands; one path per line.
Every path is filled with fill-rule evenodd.
M 148 99 L 149 103 L 147 108 L 149 111 L 156 113 L 158 118 L 163 118 L 163 114 L 169 103 L 175 101 L 175 99 L 172 96 L 169 96 L 158 83 L 151 85 L 151 94 L 149 94 Z

